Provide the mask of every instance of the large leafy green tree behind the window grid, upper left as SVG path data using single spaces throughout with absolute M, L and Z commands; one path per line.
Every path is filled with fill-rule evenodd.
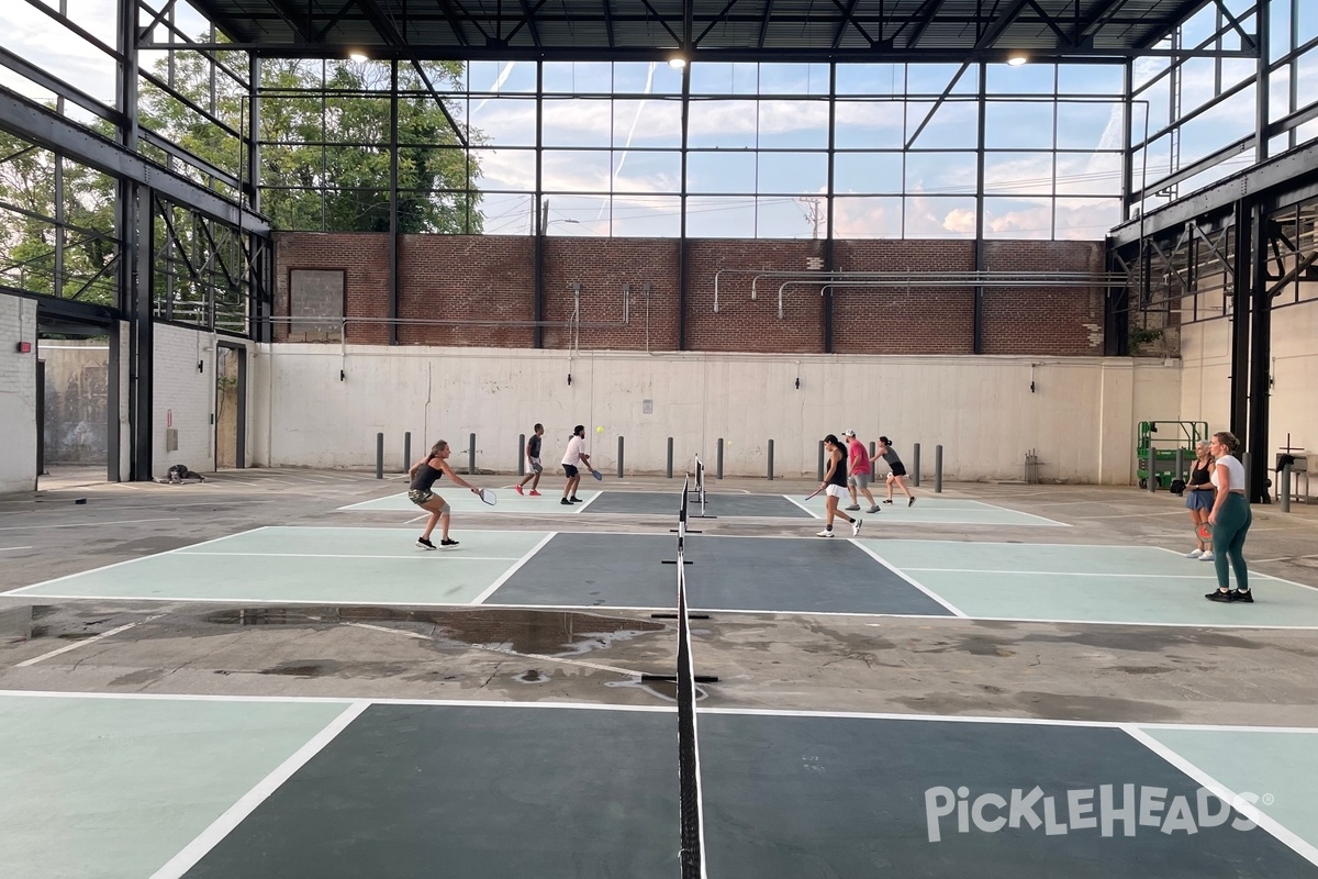
M 402 70 L 410 69 L 403 65 Z M 427 72 L 436 88 L 461 86 L 459 62 L 430 65 Z M 157 62 L 156 75 L 166 78 L 165 59 Z M 261 208 L 275 229 L 389 229 L 389 65 L 382 62 L 261 62 Z M 212 103 L 210 59 L 195 51 L 175 54 L 173 88 L 229 128 L 244 130 L 243 87 L 223 72 L 214 83 Z M 398 228 L 478 233 L 478 167 L 463 149 L 442 100 L 448 99 L 399 96 Z M 241 177 L 245 156 L 239 140 L 186 103 L 148 83 L 140 115 L 152 130 Z M 482 138 L 477 133 L 473 140 Z

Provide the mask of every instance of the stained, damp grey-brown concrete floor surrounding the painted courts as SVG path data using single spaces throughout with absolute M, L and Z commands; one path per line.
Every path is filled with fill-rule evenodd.
M 402 527 L 409 510 L 339 507 L 397 494 L 399 477 L 241 470 L 206 485 L 43 478 L 0 498 L 0 589 L 137 559 L 260 526 Z M 505 486 L 507 477 L 477 477 Z M 671 490 L 664 478 L 606 490 Z M 815 484 L 712 481 L 713 493 L 804 496 Z M 555 501 L 560 482 L 547 480 Z M 958 539 L 1190 548 L 1182 501 L 1133 488 L 948 485 L 1073 528 L 907 523 L 866 539 Z M 931 486 L 920 489 L 928 494 Z M 510 494 L 510 493 L 509 493 Z M 86 502 L 79 502 L 79 501 Z M 919 507 L 916 507 L 919 509 Z M 672 517 L 461 511 L 464 528 L 666 534 Z M 710 535 L 801 536 L 811 519 L 718 518 Z M 419 534 L 419 531 L 418 531 Z M 1318 507 L 1256 506 L 1252 571 L 1318 588 Z M 695 539 L 695 538 L 693 538 Z M 1206 565 L 1207 567 L 1207 565 Z M 692 573 L 691 576 L 695 576 Z M 821 572 L 821 577 L 826 577 Z M 1197 598 L 1197 601 L 1203 601 Z M 1260 592 L 1260 605 L 1267 596 Z M 1232 606 L 1248 622 L 1251 608 Z M 1240 611 L 1235 614 L 1234 611 Z M 693 622 L 705 706 L 1120 722 L 1315 726 L 1318 647 L 1307 629 L 977 622 L 714 614 Z M 565 646 L 571 644 L 571 646 Z M 57 652 L 63 651 L 63 652 Z M 671 622 L 648 614 L 525 608 L 227 606 L 0 596 L 0 689 L 461 698 L 667 705 Z

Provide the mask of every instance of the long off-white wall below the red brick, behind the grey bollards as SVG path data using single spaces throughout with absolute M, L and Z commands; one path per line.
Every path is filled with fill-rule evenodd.
M 1130 484 L 1135 423 L 1174 419 L 1181 374 L 1161 360 L 1101 357 L 862 357 L 502 351 L 420 347 L 262 345 L 253 362 L 250 451 L 273 467 L 372 468 L 385 434 L 386 469 L 438 439 L 465 467 L 514 472 L 518 434 L 546 426 L 558 464 L 575 424 L 587 424 L 605 472 L 626 438 L 627 472 L 662 473 L 701 453 L 713 469 L 724 438 L 728 476 L 763 476 L 775 440 L 778 476 L 813 474 L 825 434 L 890 436 L 923 470 L 944 448 L 950 480 L 1019 480 L 1035 449 L 1045 480 Z M 194 364 L 195 370 L 195 364 Z M 340 380 L 340 370 L 344 377 Z M 571 373 L 572 383 L 567 377 Z M 800 377 L 801 387 L 795 387 Z M 1031 381 L 1035 390 L 1031 391 Z M 643 412 L 643 401 L 652 412 Z M 596 427 L 604 427 L 602 434 Z

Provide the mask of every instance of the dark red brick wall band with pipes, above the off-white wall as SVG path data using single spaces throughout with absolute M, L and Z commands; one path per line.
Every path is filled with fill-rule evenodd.
M 804 271 L 821 265 L 813 240 L 688 240 L 687 304 L 679 322 L 680 242 L 673 239 L 544 240 L 544 347 L 675 351 L 679 323 L 685 351 L 820 353 L 825 297 L 818 286 L 755 271 Z M 974 242 L 962 240 L 836 241 L 846 271 L 948 273 L 974 270 Z M 277 314 L 287 314 L 291 269 L 343 269 L 349 318 L 389 314 L 389 239 L 365 233 L 277 236 Z M 534 345 L 535 241 L 526 236 L 402 236 L 399 316 L 473 322 L 401 324 L 402 344 L 529 348 Z M 988 241 L 990 271 L 1103 270 L 1103 244 Z M 716 303 L 717 278 L 717 304 Z M 757 298 L 751 299 L 751 285 Z M 581 327 L 568 326 L 577 306 Z M 627 297 L 625 285 L 630 286 Z M 988 287 L 983 353 L 1102 354 L 1103 290 Z M 832 294 L 836 353 L 962 354 L 974 351 L 974 294 L 967 287 L 840 286 Z M 275 339 L 281 339 L 277 333 Z M 384 324 L 349 323 L 348 341 L 385 344 Z

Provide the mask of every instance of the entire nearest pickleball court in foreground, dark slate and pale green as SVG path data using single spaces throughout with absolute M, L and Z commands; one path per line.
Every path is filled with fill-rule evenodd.
M 1318 731 L 697 709 L 706 875 L 1318 876 Z M 671 708 L 0 693 L 0 875 L 679 875 Z

